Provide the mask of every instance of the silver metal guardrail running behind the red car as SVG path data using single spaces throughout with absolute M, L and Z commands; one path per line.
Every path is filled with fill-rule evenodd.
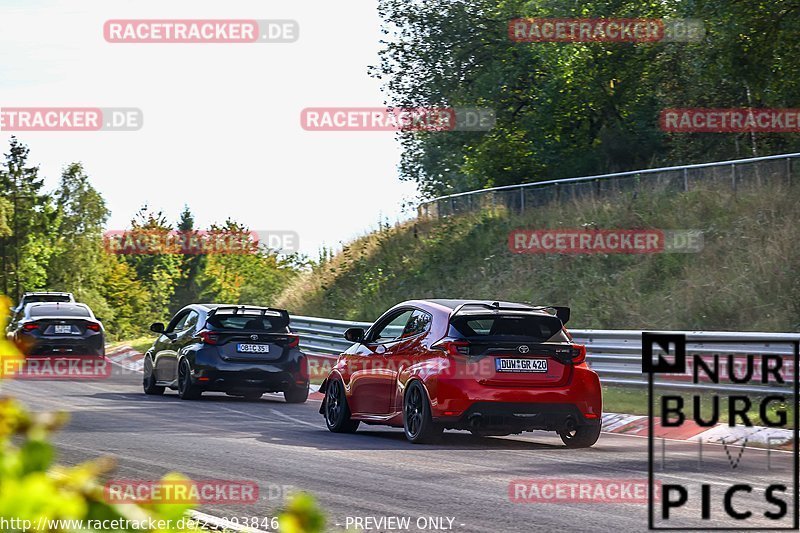
M 307 353 L 316 355 L 322 362 L 345 351 L 352 343 L 343 334 L 347 328 L 368 328 L 369 322 L 349 322 L 327 318 L 292 316 L 291 328 L 300 336 L 300 347 Z M 647 379 L 642 374 L 642 331 L 641 330 L 599 330 L 571 329 L 575 341 L 586 345 L 589 366 L 599 375 L 603 383 L 623 387 L 642 388 Z M 670 331 L 661 333 L 683 333 L 687 340 L 687 353 L 710 355 L 713 353 L 732 354 L 736 364 L 743 362 L 748 354 L 777 354 L 784 357 L 787 386 L 794 376 L 793 351 L 787 341 L 800 341 L 798 333 L 748 333 L 748 332 L 698 332 Z M 714 340 L 717 342 L 709 343 Z M 723 342 L 719 342 L 723 341 Z M 782 342 L 782 344 L 781 344 Z M 744 344 L 746 343 L 746 344 Z M 740 358 L 741 356 L 741 358 Z M 741 374 L 737 374 L 741 375 Z M 676 379 L 659 378 L 659 385 L 677 389 L 691 390 L 733 390 L 741 392 L 770 393 L 775 387 L 701 383 L 692 384 Z

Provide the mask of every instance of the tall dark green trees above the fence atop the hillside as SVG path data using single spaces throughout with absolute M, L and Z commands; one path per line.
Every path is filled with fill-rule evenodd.
M 668 108 L 798 108 L 796 0 L 380 0 L 388 102 L 487 107 L 488 132 L 406 131 L 422 196 L 800 151 L 797 133 L 667 133 Z M 699 42 L 521 43 L 518 18 L 695 19 Z

